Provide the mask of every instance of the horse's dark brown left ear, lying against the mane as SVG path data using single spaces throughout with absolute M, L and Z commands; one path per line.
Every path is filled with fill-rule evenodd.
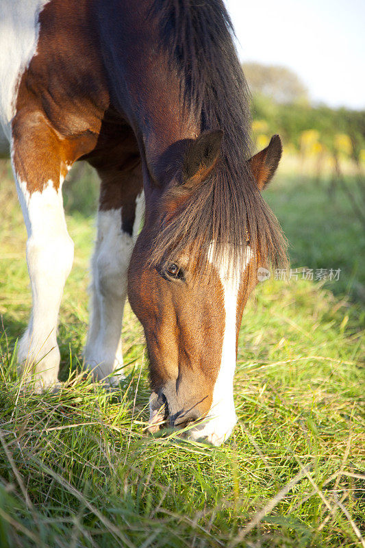
M 202 182 L 210 174 L 221 154 L 222 139 L 222 129 L 215 129 L 201 134 L 188 147 L 182 169 L 186 189 Z

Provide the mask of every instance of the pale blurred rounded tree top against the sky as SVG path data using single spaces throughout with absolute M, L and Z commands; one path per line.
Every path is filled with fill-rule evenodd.
M 307 103 L 303 82 L 285 66 L 244 63 L 242 69 L 253 95 L 265 95 L 276 103 Z

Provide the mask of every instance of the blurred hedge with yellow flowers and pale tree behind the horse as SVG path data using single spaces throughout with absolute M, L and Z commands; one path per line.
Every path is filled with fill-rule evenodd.
M 313 106 L 299 77 L 282 66 L 242 66 L 252 93 L 253 134 L 257 147 L 279 133 L 288 153 L 365 162 L 365 111 Z

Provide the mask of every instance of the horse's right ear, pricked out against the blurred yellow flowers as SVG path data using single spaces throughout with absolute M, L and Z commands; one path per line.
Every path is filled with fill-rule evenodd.
M 247 164 L 249 164 L 253 178 L 260 190 L 263 190 L 273 178 L 282 151 L 283 147 L 279 135 L 273 135 L 266 149 L 258 152 L 248 160 Z

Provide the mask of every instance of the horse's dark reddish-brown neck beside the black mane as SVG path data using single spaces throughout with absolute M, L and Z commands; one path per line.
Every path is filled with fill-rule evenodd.
M 166 166 L 174 161 L 178 143 L 199 134 L 199 123 L 184 108 L 177 71 L 171 68 L 151 16 L 152 0 L 101 2 L 99 32 L 116 108 L 136 134 L 145 186 L 151 177 L 164 186 Z M 177 146 L 175 146 L 177 144 Z M 184 147 L 184 146 L 183 146 Z

